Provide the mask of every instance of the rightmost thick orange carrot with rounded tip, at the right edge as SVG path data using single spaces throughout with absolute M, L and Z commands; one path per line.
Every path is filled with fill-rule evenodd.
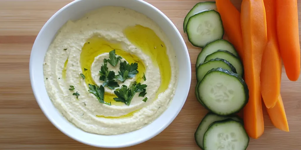
M 288 79 L 300 75 L 300 44 L 297 0 L 275 0 L 277 35 L 281 58 Z

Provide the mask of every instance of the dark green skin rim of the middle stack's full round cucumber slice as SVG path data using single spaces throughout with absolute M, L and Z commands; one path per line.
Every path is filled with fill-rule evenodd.
M 234 73 L 234 72 L 232 72 L 232 71 L 229 71 L 229 70 L 226 70 L 226 69 L 223 69 L 223 68 L 220 68 L 220 67 L 219 67 L 219 68 L 213 68 L 213 69 L 209 70 L 209 71 L 206 73 L 206 75 L 209 74 L 210 72 L 213 72 L 213 71 L 220 71 L 220 72 L 226 73 L 226 74 L 228 74 L 228 75 L 230 75 L 230 76 L 234 76 L 234 77 L 236 77 L 236 78 L 241 82 L 241 84 L 243 84 L 243 86 L 244 86 L 244 92 L 245 92 L 245 96 L 246 96 L 245 99 L 246 99 L 246 100 L 245 100 L 244 105 L 241 107 L 241 109 L 244 108 L 244 107 L 247 105 L 248 101 L 249 101 L 249 89 L 248 89 L 248 86 L 247 86 L 246 82 L 244 81 L 244 79 L 242 79 L 242 78 L 240 77 L 240 75 L 238 75 L 237 73 Z M 206 76 L 206 75 L 205 75 L 205 76 Z M 204 78 L 205 78 L 205 76 L 204 76 Z M 202 81 L 200 81 L 200 82 L 202 82 Z M 200 84 L 200 83 L 199 83 L 199 84 Z M 200 98 L 200 96 L 199 96 L 199 98 Z M 203 102 L 202 99 L 200 99 L 200 100 Z M 203 104 L 205 105 L 206 108 L 208 108 L 204 102 L 203 102 Z M 240 110 L 241 110 L 241 109 L 240 109 Z M 233 112 L 232 114 L 238 113 L 240 110 L 237 110 L 237 111 Z M 210 111 L 211 111 L 211 110 L 210 110 Z M 213 112 L 213 113 L 216 113 L 216 112 Z M 228 115 L 219 115 L 219 116 L 228 116 Z

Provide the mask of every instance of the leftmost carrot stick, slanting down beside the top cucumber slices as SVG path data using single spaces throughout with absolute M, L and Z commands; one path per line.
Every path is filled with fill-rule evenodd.
M 240 13 L 230 0 L 216 0 L 216 7 L 221 15 L 225 33 L 234 45 L 238 55 L 244 58 L 243 41 L 240 26 Z

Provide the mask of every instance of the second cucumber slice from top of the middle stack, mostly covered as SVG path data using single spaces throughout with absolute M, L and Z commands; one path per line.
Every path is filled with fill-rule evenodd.
M 216 52 L 213 52 L 212 54 L 208 55 L 205 58 L 205 61 L 209 61 L 214 58 L 222 58 L 229 61 L 235 67 L 237 74 L 239 74 L 240 76 L 244 75 L 244 67 L 240 59 L 231 52 L 226 50 L 217 50 Z

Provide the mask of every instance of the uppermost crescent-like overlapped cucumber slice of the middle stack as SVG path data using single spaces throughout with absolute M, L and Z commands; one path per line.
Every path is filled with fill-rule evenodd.
M 197 56 L 196 67 L 203 63 L 208 55 L 212 54 L 213 52 L 216 52 L 219 49 L 227 50 L 235 56 L 238 56 L 234 46 L 230 42 L 223 39 L 218 39 L 206 44 L 206 46 L 202 49 L 200 54 Z

